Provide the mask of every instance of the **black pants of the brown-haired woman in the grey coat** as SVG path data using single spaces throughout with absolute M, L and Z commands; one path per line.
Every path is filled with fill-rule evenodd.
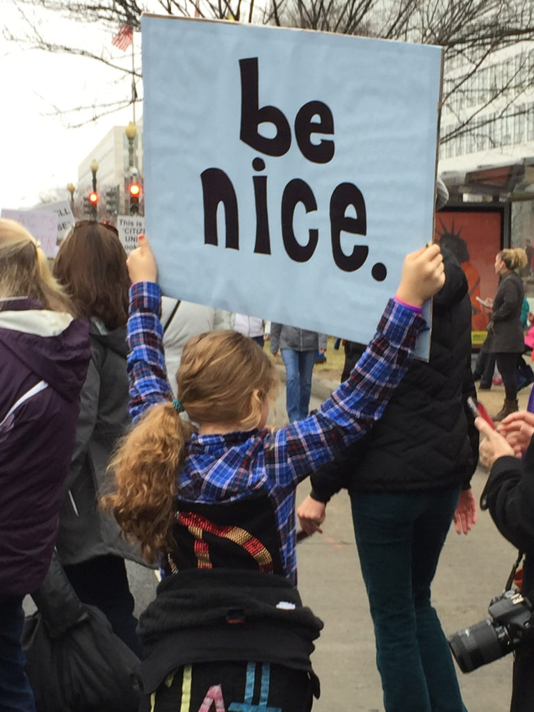
M 109 554 L 63 568 L 80 600 L 100 608 L 115 635 L 141 656 L 142 646 L 135 633 L 134 598 L 124 559 Z

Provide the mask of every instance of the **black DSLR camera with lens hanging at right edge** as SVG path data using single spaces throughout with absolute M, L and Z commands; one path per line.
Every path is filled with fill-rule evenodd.
M 462 672 L 476 670 L 515 650 L 534 625 L 532 604 L 517 591 L 505 591 L 494 598 L 488 613 L 491 618 L 447 639 Z

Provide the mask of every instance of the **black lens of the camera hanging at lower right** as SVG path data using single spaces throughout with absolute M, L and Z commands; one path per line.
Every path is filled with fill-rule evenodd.
M 506 628 L 494 625 L 489 618 L 454 633 L 448 641 L 462 672 L 471 672 L 498 660 L 513 647 Z

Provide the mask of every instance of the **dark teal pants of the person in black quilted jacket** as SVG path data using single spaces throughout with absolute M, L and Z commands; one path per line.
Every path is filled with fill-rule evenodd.
M 386 712 L 466 712 L 430 585 L 460 488 L 352 494 Z

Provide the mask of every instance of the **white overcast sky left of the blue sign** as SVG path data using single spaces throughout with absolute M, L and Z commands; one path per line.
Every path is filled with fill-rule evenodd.
M 51 28 L 48 19 L 37 19 L 46 38 L 52 34 L 67 45 L 111 52 L 112 58 L 131 66 L 130 48 L 126 52 L 114 48 L 109 29 L 61 21 L 57 15 Z M 6 41 L 6 28 L 14 34 L 24 29 L 12 0 L 0 0 L 0 28 L 0 209 L 34 206 L 39 194 L 54 189 L 63 190 L 68 199 L 66 186 L 77 183 L 78 164 L 112 126 L 132 120 L 132 109 L 74 129 L 68 124 L 80 122 L 82 113 L 49 115 L 53 106 L 72 109 L 129 98 L 131 80 L 119 80 L 120 73 L 98 61 L 53 55 Z M 135 33 L 135 43 L 139 49 L 140 33 Z M 141 112 L 137 103 L 136 117 Z M 86 117 L 91 115 L 90 111 Z

